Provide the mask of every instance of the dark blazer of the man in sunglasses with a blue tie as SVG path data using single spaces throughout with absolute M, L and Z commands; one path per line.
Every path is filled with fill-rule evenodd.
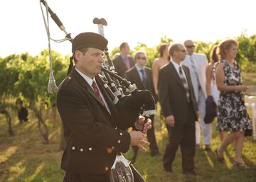
M 128 81 L 131 81 L 132 84 L 136 84 L 137 89 L 139 90 L 149 90 L 154 96 L 155 101 L 158 101 L 158 97 L 156 96 L 156 93 L 154 91 L 153 86 L 153 74 L 152 70 L 149 67 L 145 67 L 145 73 L 146 73 L 146 88 L 144 88 L 144 85 L 142 84 L 142 79 L 139 76 L 139 72 L 137 71 L 137 68 L 134 66 L 130 69 L 128 69 L 125 74 L 124 78 Z

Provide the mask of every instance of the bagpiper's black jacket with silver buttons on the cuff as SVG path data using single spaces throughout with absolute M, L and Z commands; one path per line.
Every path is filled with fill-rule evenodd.
M 95 77 L 111 115 L 87 81 L 73 69 L 60 84 L 57 107 L 63 122 L 65 151 L 61 169 L 75 174 L 105 174 L 118 152 L 127 152 L 129 133 L 118 128 L 134 125 L 120 122 L 116 106 Z

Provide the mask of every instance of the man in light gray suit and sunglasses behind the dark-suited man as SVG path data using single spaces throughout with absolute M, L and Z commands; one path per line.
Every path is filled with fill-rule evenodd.
M 195 45 L 192 40 L 186 40 L 184 45 L 188 55 L 186 55 L 183 65 L 187 66 L 190 70 L 193 90 L 196 96 L 201 118 L 201 128 L 199 123 L 196 122 L 196 144 L 200 146 L 200 136 L 202 130 L 205 149 L 210 150 L 210 139 L 212 135 L 211 124 L 204 123 L 204 117 L 206 115 L 206 67 L 208 65 L 208 59 L 206 55 L 194 52 Z

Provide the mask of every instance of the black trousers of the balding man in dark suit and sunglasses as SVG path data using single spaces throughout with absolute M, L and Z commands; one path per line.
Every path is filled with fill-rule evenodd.
M 169 142 L 163 157 L 164 169 L 171 169 L 178 146 L 181 146 L 183 172 L 193 171 L 196 145 L 195 120 L 196 116 L 193 113 L 193 107 L 188 104 L 186 123 L 176 123 L 174 127 L 167 126 Z

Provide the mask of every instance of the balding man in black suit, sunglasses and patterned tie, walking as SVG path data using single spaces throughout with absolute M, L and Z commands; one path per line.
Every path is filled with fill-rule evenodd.
M 186 57 L 186 49 L 182 44 L 173 44 L 169 47 L 169 55 L 171 62 L 159 70 L 159 101 L 169 131 L 169 143 L 163 157 L 164 170 L 172 171 L 180 145 L 183 173 L 196 175 L 193 158 L 198 107 L 189 69 L 181 64 Z

